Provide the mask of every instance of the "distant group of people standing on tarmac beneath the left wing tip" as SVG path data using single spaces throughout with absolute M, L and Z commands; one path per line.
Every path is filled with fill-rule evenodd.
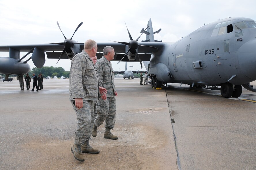
M 32 78 L 33 78 L 33 88 L 30 91 L 33 92 L 35 87 L 36 87 L 36 92 L 38 92 L 38 90 L 43 89 L 44 77 L 42 76 L 42 73 L 38 74 L 38 77 L 35 75 L 35 73 L 33 73 L 33 77 Z M 19 80 L 19 82 L 20 82 L 21 90 L 24 90 L 23 74 L 18 75 L 17 80 Z M 30 78 L 29 74 L 26 75 L 25 82 L 26 82 L 26 85 L 27 85 L 27 89 L 26 90 L 29 90 L 30 82 L 31 82 L 31 78 Z

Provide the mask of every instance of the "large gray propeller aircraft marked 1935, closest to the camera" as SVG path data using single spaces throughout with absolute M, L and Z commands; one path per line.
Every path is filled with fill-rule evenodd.
M 144 61 L 153 88 L 170 82 L 189 84 L 196 88 L 216 89 L 220 86 L 223 97 L 240 97 L 242 86 L 256 92 L 250 86 L 250 82 L 256 80 L 256 23 L 250 18 L 218 20 L 175 43 L 156 41 L 154 34 L 161 29 L 153 32 L 151 19 L 147 28 L 141 31 L 146 34 L 144 41 L 138 42 L 142 34 L 133 39 L 128 28 L 127 31 L 129 42 L 97 43 L 97 58 L 102 57 L 105 46 L 112 46 L 117 52 L 113 61 Z M 44 65 L 44 52 L 48 58 L 72 59 L 83 49 L 83 43 L 72 40 L 72 37 L 66 39 L 64 35 L 63 43 L 0 46 L 0 51 L 10 52 L 10 59 L 0 58 L 0 72 L 20 74 L 19 71 L 23 71 L 24 74 L 29 71 L 26 61 L 21 62 L 23 57 L 19 59 L 20 51 L 32 53 L 36 67 Z M 9 66 L 12 69 L 8 69 Z

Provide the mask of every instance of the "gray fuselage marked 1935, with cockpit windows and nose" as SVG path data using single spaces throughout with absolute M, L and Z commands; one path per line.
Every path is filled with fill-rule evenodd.
M 256 80 L 255 37 L 256 23 L 249 18 L 207 24 L 152 53 L 149 73 L 162 83 L 215 86 L 252 82 Z

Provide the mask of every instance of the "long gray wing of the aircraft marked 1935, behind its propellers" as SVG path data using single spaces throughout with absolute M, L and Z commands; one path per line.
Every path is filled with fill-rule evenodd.
M 82 49 L 84 48 L 84 43 L 78 43 L 75 44 L 77 46 L 77 49 L 79 49 L 77 52 L 82 52 Z M 127 45 L 117 43 L 117 42 L 105 42 L 105 43 L 97 43 L 98 45 L 98 52 L 96 54 L 97 59 L 101 58 L 103 56 L 103 48 L 106 46 L 112 46 L 117 54 L 114 56 L 114 60 L 112 61 L 120 61 L 123 56 L 126 53 L 125 47 Z M 138 47 L 138 53 L 140 56 L 141 61 L 149 61 L 151 57 L 152 52 L 157 52 L 163 48 L 165 43 L 163 42 L 139 42 Z M 155 48 L 150 48 L 148 46 L 152 46 Z M 8 52 L 10 49 L 14 49 L 20 52 L 29 52 L 34 47 L 37 47 L 39 50 L 45 51 L 47 58 L 59 58 L 61 55 L 61 52 L 64 49 L 63 45 L 58 44 L 31 44 L 31 45 L 12 45 L 12 46 L 0 46 L 1 52 Z M 127 48 L 129 48 L 127 46 Z M 156 49 L 157 48 L 157 49 Z M 68 59 L 67 54 L 65 53 L 62 58 Z M 129 61 L 127 57 L 124 57 L 122 61 Z M 136 57 L 135 61 L 139 62 L 138 57 Z

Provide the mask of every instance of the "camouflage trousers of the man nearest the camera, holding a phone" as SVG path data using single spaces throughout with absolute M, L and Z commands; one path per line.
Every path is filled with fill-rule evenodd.
M 72 103 L 72 106 L 78 120 L 75 132 L 75 144 L 82 145 L 86 140 L 91 139 L 94 120 L 93 101 L 83 100 L 83 107 L 81 109 L 76 108 L 74 103 Z

